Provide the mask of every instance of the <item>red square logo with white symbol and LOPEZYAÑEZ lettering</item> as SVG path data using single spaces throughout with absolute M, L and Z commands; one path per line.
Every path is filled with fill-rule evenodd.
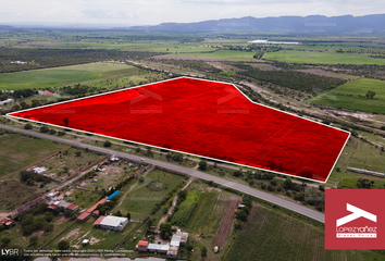
M 385 189 L 325 190 L 325 249 L 385 249 Z

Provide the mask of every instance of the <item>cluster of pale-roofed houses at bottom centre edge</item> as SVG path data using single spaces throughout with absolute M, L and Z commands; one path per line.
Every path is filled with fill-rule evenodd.
M 179 247 L 187 245 L 188 233 L 178 229 L 171 238 L 169 244 L 151 244 L 140 240 L 135 249 L 140 252 L 165 253 L 167 259 L 176 259 Z

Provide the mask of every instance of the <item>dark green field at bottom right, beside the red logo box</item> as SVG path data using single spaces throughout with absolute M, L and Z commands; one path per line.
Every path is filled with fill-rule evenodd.
M 252 213 L 250 213 L 252 215 Z M 372 251 L 325 250 L 324 228 L 258 207 L 244 224 L 226 260 L 385 260 Z

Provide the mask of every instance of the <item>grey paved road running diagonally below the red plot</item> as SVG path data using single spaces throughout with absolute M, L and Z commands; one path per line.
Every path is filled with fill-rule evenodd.
M 110 149 L 105 149 L 105 148 L 100 148 L 100 147 L 96 147 L 96 146 L 91 146 L 91 145 L 85 145 L 85 144 L 80 144 L 77 141 L 73 141 L 73 140 L 67 140 L 67 139 L 63 139 L 63 138 L 58 138 L 57 136 L 50 136 L 50 135 L 46 135 L 46 134 L 40 134 L 40 133 L 34 133 L 34 132 L 29 132 L 26 129 L 20 129 L 20 128 L 15 128 L 15 127 L 10 127 L 7 125 L 2 125 L 0 124 L 0 128 L 4 128 L 4 129 L 9 129 L 9 130 L 13 130 L 13 132 L 17 132 L 17 133 L 23 133 L 23 134 L 27 134 L 27 135 L 32 135 L 32 136 L 36 136 L 36 137 L 40 137 L 40 138 L 46 138 L 46 139 L 51 139 L 51 140 L 55 140 L 58 142 L 63 142 L 63 144 L 67 144 L 67 145 L 72 145 L 72 146 L 76 146 L 79 148 L 88 148 L 90 150 L 95 150 L 95 151 L 100 151 L 103 153 L 108 153 L 108 154 L 115 154 L 117 157 L 121 158 L 126 158 L 133 161 L 140 161 L 142 157 L 139 156 L 134 156 L 134 154 L 128 154 L 128 153 L 124 153 L 124 152 L 120 152 L 120 151 L 114 151 L 114 150 L 110 150 Z M 240 192 L 244 194 L 248 194 L 250 196 L 253 196 L 256 198 L 260 198 L 263 199 L 265 201 L 269 201 L 271 203 L 281 206 L 283 208 L 286 208 L 288 210 L 295 211 L 297 213 L 300 213 L 302 215 L 309 216 L 313 220 L 320 221 L 322 223 L 325 222 L 325 215 L 323 213 L 316 212 L 314 210 L 305 208 L 302 206 L 293 203 L 290 201 L 287 201 L 285 199 L 281 199 L 278 197 L 275 197 L 273 195 L 247 187 L 245 185 L 240 185 L 234 182 L 229 182 L 226 181 L 224 178 L 221 177 L 216 177 L 216 176 L 212 176 L 210 174 L 203 173 L 203 172 L 199 172 L 192 169 L 188 169 L 188 167 L 184 167 L 184 166 L 179 166 L 179 165 L 174 165 L 167 162 L 163 162 L 163 161 L 157 161 L 157 160 L 152 160 L 152 159 L 148 159 L 148 158 L 144 158 L 146 159 L 145 162 L 157 165 L 159 167 L 163 167 L 166 170 L 171 170 L 174 172 L 178 172 L 181 174 L 186 174 L 186 175 L 190 175 L 190 176 L 195 176 L 201 179 L 206 179 L 206 181 L 212 181 L 221 186 L 224 187 L 228 187 L 228 188 L 233 188 L 235 190 L 238 190 Z

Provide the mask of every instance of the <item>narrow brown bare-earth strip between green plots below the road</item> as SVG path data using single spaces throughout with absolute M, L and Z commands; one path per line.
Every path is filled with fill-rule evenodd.
M 232 231 L 234 211 L 236 210 L 239 198 L 232 196 L 222 217 L 220 227 L 218 228 L 215 238 L 212 241 L 212 246 L 223 247 L 226 244 L 227 237 Z

